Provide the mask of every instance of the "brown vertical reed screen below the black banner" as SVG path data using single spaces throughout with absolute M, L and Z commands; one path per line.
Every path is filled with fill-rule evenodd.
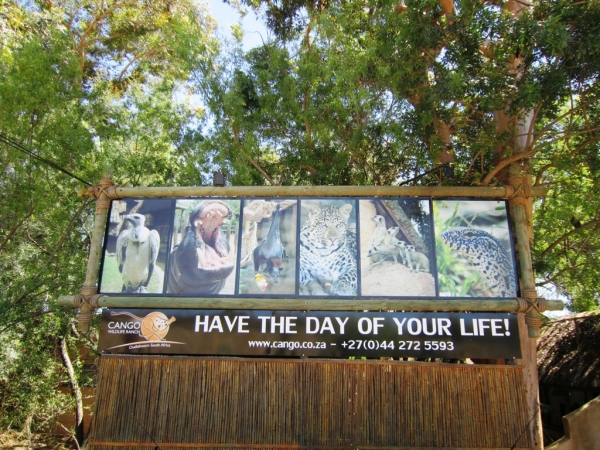
M 104 356 L 88 445 L 530 448 L 523 390 L 520 366 Z

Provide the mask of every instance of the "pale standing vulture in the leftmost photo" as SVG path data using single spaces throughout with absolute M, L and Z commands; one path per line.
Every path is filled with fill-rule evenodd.
M 128 214 L 125 221 L 131 226 L 117 238 L 117 262 L 123 277 L 122 292 L 146 293 L 158 258 L 160 236 L 156 230 L 149 230 L 145 226 L 146 217 L 143 214 Z

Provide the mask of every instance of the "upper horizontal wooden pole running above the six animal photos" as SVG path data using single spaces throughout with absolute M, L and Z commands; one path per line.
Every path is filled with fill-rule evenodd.
M 469 197 L 509 198 L 508 186 L 228 186 L 228 187 L 117 187 L 117 198 L 132 197 Z M 531 196 L 544 197 L 544 187 L 530 188 Z M 80 191 L 80 196 L 90 196 Z

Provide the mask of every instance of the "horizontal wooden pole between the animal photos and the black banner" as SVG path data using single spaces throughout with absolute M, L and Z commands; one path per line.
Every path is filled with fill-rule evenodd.
M 74 296 L 61 296 L 58 304 L 73 306 Z M 560 300 L 548 300 L 547 309 L 561 311 Z M 516 299 L 281 299 L 281 298 L 200 298 L 200 297 L 111 297 L 103 295 L 98 307 L 149 309 L 268 309 L 288 311 L 481 311 L 517 312 Z

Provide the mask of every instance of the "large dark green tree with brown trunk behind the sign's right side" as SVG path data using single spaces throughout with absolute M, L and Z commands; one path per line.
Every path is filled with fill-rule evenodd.
M 454 178 L 419 182 L 496 185 L 516 165 L 550 189 L 536 204 L 539 285 L 598 306 L 597 2 L 244 4 L 275 38 L 203 78 L 209 140 L 246 155 L 235 181 L 397 184 L 451 163 Z

